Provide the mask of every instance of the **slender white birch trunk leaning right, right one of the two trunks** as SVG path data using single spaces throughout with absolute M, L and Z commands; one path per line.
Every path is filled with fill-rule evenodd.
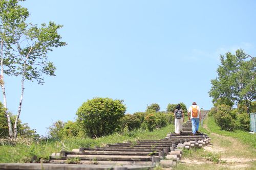
M 18 114 L 16 116 L 15 123 L 14 123 L 14 138 L 16 138 L 17 135 L 18 135 L 17 124 L 18 124 L 18 119 L 19 119 L 20 112 L 22 111 L 22 101 L 23 101 L 23 95 L 24 95 L 24 89 L 25 89 L 24 88 L 24 80 L 26 79 L 25 75 L 26 75 L 27 60 L 29 58 L 29 54 L 30 54 L 31 51 L 32 51 L 32 47 L 30 48 L 30 51 L 27 54 L 26 59 L 24 60 L 24 65 L 23 65 L 22 93 L 20 94 L 20 100 L 19 100 L 19 105 L 18 105 Z

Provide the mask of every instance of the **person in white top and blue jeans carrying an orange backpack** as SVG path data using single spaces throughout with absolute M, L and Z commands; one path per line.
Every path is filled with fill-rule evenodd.
M 198 132 L 199 122 L 201 121 L 201 111 L 200 107 L 197 106 L 196 102 L 192 103 L 192 106 L 189 107 L 187 111 L 188 119 L 191 120 L 192 123 L 192 133 L 195 135 Z

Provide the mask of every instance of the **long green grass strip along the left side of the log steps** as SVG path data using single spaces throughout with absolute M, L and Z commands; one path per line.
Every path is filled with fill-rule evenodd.
M 136 141 L 142 139 L 163 139 L 167 133 L 174 131 L 174 125 L 169 125 L 161 129 L 156 129 L 153 132 L 141 131 L 140 129 L 124 134 L 115 133 L 109 136 L 91 138 L 70 138 L 62 141 L 47 140 L 40 142 L 32 142 L 27 144 L 0 145 L 0 163 L 25 163 L 32 162 L 32 157 L 36 156 L 34 162 L 39 162 L 40 159 L 49 160 L 52 153 L 60 152 L 61 150 L 71 151 L 80 147 L 103 147 L 108 143 L 116 143 L 123 141 Z

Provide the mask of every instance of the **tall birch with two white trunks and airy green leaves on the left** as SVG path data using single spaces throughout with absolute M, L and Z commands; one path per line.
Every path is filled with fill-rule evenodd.
M 20 0 L 24 1 L 24 0 Z M 19 76 L 21 78 L 21 94 L 14 123 L 14 134 L 10 116 L 6 110 L 9 127 L 9 136 L 16 138 L 17 122 L 22 110 L 24 96 L 24 81 L 36 80 L 44 84 L 42 75 L 55 76 L 56 67 L 48 61 L 48 53 L 53 48 L 66 45 L 60 41 L 57 30 L 61 25 L 54 22 L 42 23 L 40 26 L 26 23 L 29 12 L 18 5 L 19 0 L 2 0 L 0 2 L 0 55 L 1 55 L 1 81 L 4 106 L 7 108 L 7 99 L 4 83 L 4 74 Z

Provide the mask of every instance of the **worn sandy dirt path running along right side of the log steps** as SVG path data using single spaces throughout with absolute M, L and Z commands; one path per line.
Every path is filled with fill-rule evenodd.
M 203 127 L 208 130 L 206 124 Z M 181 160 L 182 163 L 197 169 L 256 169 L 255 151 L 251 151 L 248 145 L 216 133 L 210 133 L 209 136 L 211 144 L 205 146 L 202 153 Z M 209 161 L 205 155 L 216 159 Z

